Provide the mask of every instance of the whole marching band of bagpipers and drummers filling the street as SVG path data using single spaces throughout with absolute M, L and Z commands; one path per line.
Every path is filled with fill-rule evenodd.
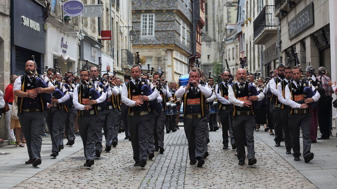
M 298 66 L 280 64 L 274 75 L 262 79 L 240 68 L 235 75 L 223 71 L 218 78 L 211 78 L 210 73 L 208 82 L 199 68 L 193 68 L 184 80 L 179 79 L 177 88 L 176 82 L 162 78 L 163 73 L 153 68 L 146 73 L 139 64 L 131 66 L 123 84 L 116 74 L 110 75 L 109 67 L 105 73 L 100 66 L 84 67 L 76 82 L 75 73 L 62 75 L 57 67 L 46 68 L 46 74 L 39 75 L 35 61 L 29 60 L 25 66 L 26 74 L 15 80 L 13 91 L 18 97 L 18 117 L 29 155 L 26 163 L 33 166 L 41 164 L 41 131 L 47 122 L 53 158 L 64 148 L 64 135 L 66 145 L 74 144 L 77 123 L 86 157 L 84 166 L 91 167 L 103 147 L 110 152 L 118 145 L 122 127 L 125 139 L 132 143 L 134 166 L 145 167 L 147 159 L 154 158 L 154 151 L 164 153 L 165 130 L 179 129 L 180 106 L 191 165 L 205 164 L 211 153 L 209 131 L 219 129 L 217 121 L 222 127 L 222 149 L 231 144 L 239 165 L 245 164 L 245 146 L 248 166 L 256 164 L 253 134 L 260 125 L 275 134 L 276 147 L 284 141 L 285 153 L 293 151 L 295 161 L 300 160 L 301 153 L 306 163 L 314 158 L 310 146 L 317 138 L 317 102 L 323 94 L 320 82 L 327 76 L 322 73 L 315 77 L 313 68 L 305 72 Z M 309 74 L 306 80 L 303 74 Z

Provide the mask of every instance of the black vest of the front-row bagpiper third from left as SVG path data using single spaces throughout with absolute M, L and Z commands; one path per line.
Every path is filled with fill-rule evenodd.
M 141 88 L 143 84 L 140 81 L 138 88 L 134 85 L 134 83 L 130 80 L 126 83 L 126 88 L 128 91 L 128 98 L 133 101 L 139 100 L 139 98 L 142 96 L 141 94 Z M 128 107 L 128 113 L 134 112 L 134 111 L 149 111 L 148 103 L 143 103 L 142 106 L 132 106 Z

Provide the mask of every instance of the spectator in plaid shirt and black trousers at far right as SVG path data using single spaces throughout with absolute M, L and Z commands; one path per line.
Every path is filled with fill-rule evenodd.
M 321 66 L 318 68 L 318 74 L 320 73 L 327 73 L 327 70 Z M 317 77 L 317 79 L 319 79 L 320 76 Z M 322 140 L 322 139 L 330 139 L 330 111 L 332 110 L 332 93 L 334 93 L 334 91 L 331 88 L 331 79 L 326 76 L 323 75 L 321 82 L 320 82 L 321 86 L 325 89 L 325 96 L 321 96 L 320 100 L 320 107 L 318 109 L 318 125 L 319 125 L 319 130 L 320 133 L 322 134 L 321 137 L 318 137 L 318 140 Z

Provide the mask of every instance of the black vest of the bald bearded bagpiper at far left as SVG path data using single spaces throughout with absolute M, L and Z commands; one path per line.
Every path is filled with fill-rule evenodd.
M 42 76 L 39 74 L 38 77 L 42 79 Z M 36 81 L 35 78 L 32 81 L 30 81 L 27 75 L 21 76 L 21 86 L 22 86 L 21 90 L 24 92 L 35 91 L 35 88 L 37 88 L 37 86 L 35 85 L 35 81 Z M 47 103 L 42 99 L 40 94 L 37 94 L 37 96 L 34 99 L 28 97 L 18 97 L 19 112 L 21 113 L 22 110 L 29 108 L 36 108 L 41 111 L 45 111 L 47 108 Z

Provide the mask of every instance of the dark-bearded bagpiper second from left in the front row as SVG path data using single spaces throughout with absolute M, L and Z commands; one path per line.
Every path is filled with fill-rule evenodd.
M 72 102 L 75 108 L 79 110 L 77 123 L 79 125 L 79 131 L 83 141 L 84 155 L 86 157 L 86 162 L 84 166 L 91 167 L 91 165 L 94 164 L 95 151 L 97 152 L 97 149 L 95 147 L 97 128 L 103 124 L 99 123 L 99 121 L 102 121 L 98 117 L 98 111 L 100 111 L 101 108 L 98 107 L 97 104 L 105 101 L 106 94 L 103 93 L 101 95 L 101 97 L 103 96 L 103 98 L 98 98 L 96 100 L 90 99 L 90 85 L 88 84 L 90 77 L 89 70 L 82 69 L 80 72 L 80 77 L 81 84 L 75 87 L 73 91 Z M 99 86 L 97 88 L 98 91 L 101 90 Z

